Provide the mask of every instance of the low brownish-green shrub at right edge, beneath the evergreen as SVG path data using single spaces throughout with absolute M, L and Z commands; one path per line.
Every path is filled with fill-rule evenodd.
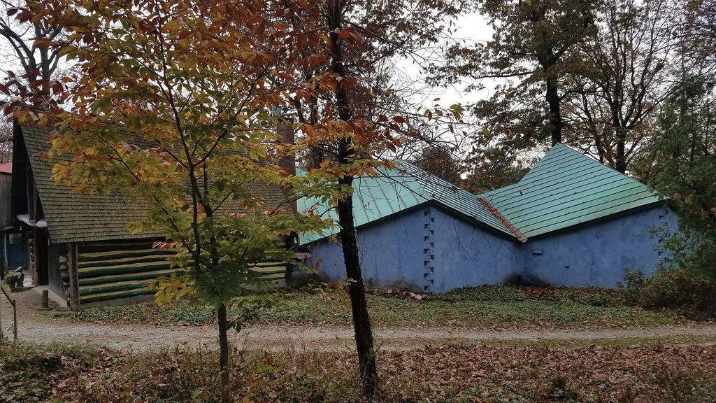
M 714 284 L 682 269 L 658 267 L 650 277 L 641 270 L 626 270 L 619 288 L 627 303 L 642 308 L 678 308 L 697 316 L 716 313 Z

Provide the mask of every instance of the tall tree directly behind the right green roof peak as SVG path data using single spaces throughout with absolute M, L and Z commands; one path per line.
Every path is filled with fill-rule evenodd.
M 469 189 L 494 189 L 518 179 L 528 168 L 523 153 L 564 141 L 568 125 L 564 86 L 579 62 L 574 49 L 596 32 L 599 1 L 475 0 L 472 10 L 493 29 L 486 43 L 453 42 L 442 62 L 427 70 L 436 85 L 468 82 L 490 87 L 489 98 L 470 104 Z

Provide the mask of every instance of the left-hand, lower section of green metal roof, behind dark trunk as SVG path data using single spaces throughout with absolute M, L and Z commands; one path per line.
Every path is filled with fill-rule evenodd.
M 434 201 L 499 232 L 511 234 L 488 209 L 480 204 L 474 194 L 430 175 L 410 163 L 405 161 L 397 161 L 397 163 L 397 169 L 377 169 L 378 176 L 362 176 L 354 179 L 353 215 L 356 227 Z M 299 174 L 301 174 L 300 170 Z M 314 206 L 323 217 L 332 217 L 338 222 L 334 208 L 329 208 L 312 198 L 298 201 L 299 212 Z M 335 227 L 321 234 L 301 234 L 301 243 L 320 240 L 337 232 L 338 228 Z

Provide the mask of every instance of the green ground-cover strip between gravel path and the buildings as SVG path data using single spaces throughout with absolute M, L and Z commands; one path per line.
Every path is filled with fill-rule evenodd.
M 682 323 L 671 310 L 644 310 L 624 303 L 624 292 L 599 288 L 530 288 L 485 285 L 429 295 L 423 300 L 402 293 L 367 295 L 375 326 L 481 326 L 599 327 L 654 326 Z M 344 290 L 321 289 L 277 294 L 277 303 L 259 313 L 260 323 L 296 323 L 314 326 L 351 324 Z M 231 313 L 230 313 L 231 315 Z M 153 303 L 88 308 L 74 316 L 79 321 L 120 323 L 186 323 L 215 321 L 207 307 L 178 301 L 158 307 Z

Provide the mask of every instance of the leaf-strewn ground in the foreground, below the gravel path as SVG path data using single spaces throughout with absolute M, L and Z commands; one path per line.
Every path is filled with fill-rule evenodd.
M 52 389 L 39 399 L 217 401 L 216 351 L 79 353 L 70 362 L 81 370 L 51 365 Z M 34 363 L 38 356 L 44 353 L 34 346 L 13 353 L 15 362 Z M 19 378 L 38 375 L 37 368 L 2 362 Z M 231 395 L 235 402 L 358 402 L 356 366 L 347 352 L 235 350 Z M 716 401 L 716 346 L 427 346 L 381 351 L 378 369 L 377 402 Z

